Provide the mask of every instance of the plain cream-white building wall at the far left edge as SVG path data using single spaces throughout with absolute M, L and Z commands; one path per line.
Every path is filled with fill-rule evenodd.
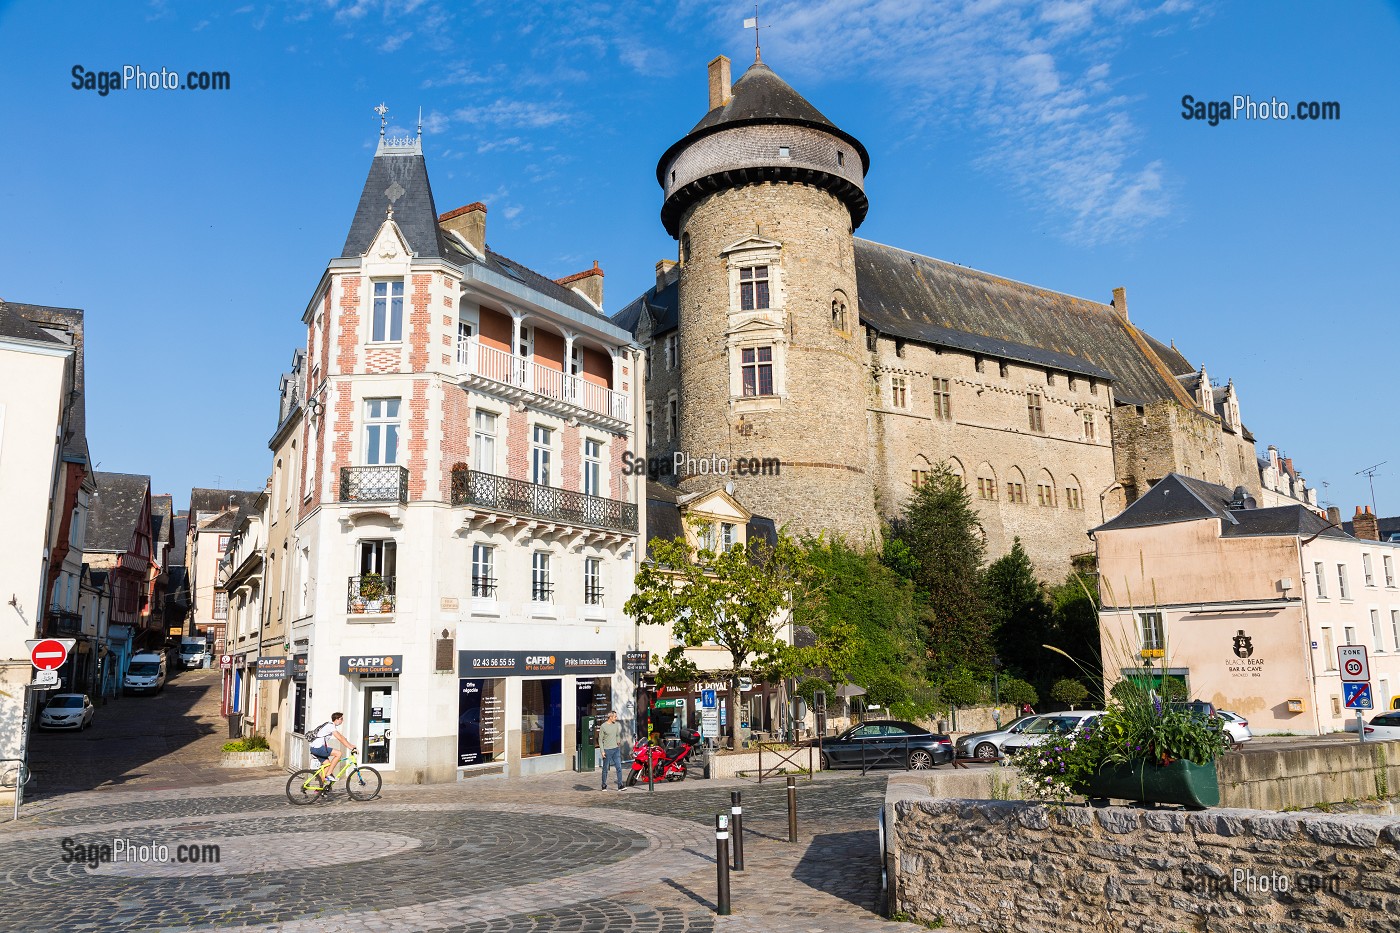
M 70 345 L 0 303 L 0 758 L 21 756 L 32 706 L 25 640 L 45 612 L 73 367 Z

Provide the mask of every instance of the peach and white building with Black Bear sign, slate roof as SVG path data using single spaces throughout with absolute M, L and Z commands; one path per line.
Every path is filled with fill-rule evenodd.
M 1176 474 L 1093 541 L 1109 685 L 1148 657 L 1257 734 L 1323 734 L 1355 717 L 1337 649 L 1362 646 L 1375 706 L 1400 693 L 1400 544 Z

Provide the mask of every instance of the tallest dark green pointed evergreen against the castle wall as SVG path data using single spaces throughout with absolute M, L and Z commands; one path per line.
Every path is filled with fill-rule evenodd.
M 986 551 L 966 486 L 938 464 L 890 523 L 882 553 L 885 565 L 918 590 L 935 684 L 959 670 L 991 675 L 991 625 L 981 587 Z

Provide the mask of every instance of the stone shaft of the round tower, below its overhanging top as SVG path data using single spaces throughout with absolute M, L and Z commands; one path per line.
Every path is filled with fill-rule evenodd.
M 679 448 L 694 457 L 778 458 L 778 476 L 731 478 L 738 500 L 794 531 L 836 530 L 864 545 L 878 521 L 848 210 L 806 185 L 748 185 L 689 209 L 682 219 L 686 238 Z M 766 314 L 741 312 L 731 279 L 731 265 L 749 259 L 725 251 L 746 238 L 780 244 Z M 848 305 L 844 332 L 832 324 L 834 294 Z M 778 394 L 742 398 L 736 347 L 766 342 L 774 346 Z M 680 485 L 700 490 L 718 483 L 696 476 Z

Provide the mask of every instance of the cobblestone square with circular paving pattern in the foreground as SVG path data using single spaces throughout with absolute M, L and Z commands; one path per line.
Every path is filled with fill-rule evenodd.
M 388 785 L 291 807 L 286 776 L 55 794 L 0 827 L 0 929 L 434 933 L 864 933 L 885 779 L 596 790 L 596 775 Z M 715 916 L 714 815 L 745 810 L 745 871 Z M 74 846 L 214 843 L 218 862 L 64 862 Z M 64 841 L 69 841 L 64 843 Z M 67 848 L 66 848 L 67 846 Z

